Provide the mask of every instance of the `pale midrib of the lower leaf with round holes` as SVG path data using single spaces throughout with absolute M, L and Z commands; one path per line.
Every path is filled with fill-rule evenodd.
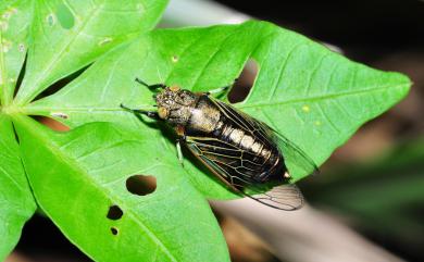
M 22 118 L 22 117 L 27 117 L 27 116 L 18 116 L 18 117 Z M 18 120 L 18 118 L 15 118 L 15 120 Z M 28 120 L 21 121 L 21 123 L 23 123 L 25 126 L 34 125 L 34 123 L 29 124 Z M 40 132 L 35 132 L 35 130 L 39 130 L 40 127 L 26 128 L 26 129 L 27 129 L 28 133 L 32 133 L 34 137 L 37 137 L 38 139 L 40 139 L 41 142 L 45 145 L 45 147 L 49 151 L 51 151 L 53 153 L 53 155 L 57 159 L 59 159 L 59 161 L 62 161 L 63 163 L 68 165 L 72 170 L 76 171 L 77 173 L 85 174 L 82 177 L 83 177 L 83 179 L 86 179 L 89 183 L 89 185 L 95 185 L 95 187 L 98 188 L 99 191 L 101 194 L 103 194 L 105 197 L 110 197 L 112 199 L 116 198 L 116 196 L 113 194 L 113 191 L 110 191 L 108 188 L 103 188 L 103 187 L 99 186 L 98 183 L 95 179 L 91 179 L 90 175 L 89 175 L 89 172 L 86 169 L 84 169 L 83 166 L 80 166 L 77 161 L 75 161 L 74 159 L 72 159 L 68 155 L 64 154 L 61 150 L 58 150 L 58 148 L 55 147 L 57 144 L 51 142 L 51 140 L 48 139 L 48 137 L 40 135 Z M 166 257 L 169 257 L 171 261 L 177 262 L 175 257 L 170 252 L 170 249 L 166 248 L 166 246 L 154 234 L 154 232 L 151 230 L 150 228 L 148 228 L 145 224 L 140 223 L 138 220 L 136 220 L 137 215 L 134 214 L 134 212 L 132 212 L 132 210 L 133 210 L 132 208 L 128 208 L 125 203 L 123 203 L 119 197 L 117 197 L 117 201 L 114 201 L 114 202 L 116 202 L 121 207 L 125 207 L 126 208 L 125 210 L 128 213 L 128 216 L 132 217 L 133 221 L 136 222 L 137 225 L 139 225 L 141 227 L 140 229 L 142 229 L 144 232 L 147 233 L 147 235 L 150 237 L 150 239 L 152 239 L 158 245 L 158 247 L 160 247 L 162 249 L 163 253 L 166 254 Z M 46 212 L 48 213 L 48 211 L 46 211 Z M 61 227 L 59 224 L 57 224 L 57 225 L 59 227 Z M 63 230 L 63 232 L 66 235 L 66 232 L 65 230 Z M 71 239 L 71 241 L 73 241 L 73 240 Z M 80 247 L 76 242 L 74 242 L 74 244 L 76 246 Z M 83 247 L 80 247 L 80 248 L 83 249 Z M 87 253 L 87 255 L 90 255 L 89 252 L 86 252 L 86 253 Z

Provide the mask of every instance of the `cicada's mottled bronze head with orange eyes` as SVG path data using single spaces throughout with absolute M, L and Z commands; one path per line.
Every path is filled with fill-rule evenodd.
M 196 104 L 196 95 L 178 87 L 166 87 L 157 96 L 159 117 L 171 125 L 184 125 Z

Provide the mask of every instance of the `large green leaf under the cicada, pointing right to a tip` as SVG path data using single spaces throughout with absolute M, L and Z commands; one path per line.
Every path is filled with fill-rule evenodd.
M 119 123 L 148 134 L 157 145 L 166 134 L 160 132 L 163 126 L 140 123 L 120 109 L 122 102 L 134 108 L 153 104 L 151 92 L 135 77 L 205 91 L 232 84 L 250 58 L 259 74 L 248 98 L 235 107 L 273 126 L 317 164 L 363 123 L 400 101 L 410 86 L 401 74 L 354 63 L 275 25 L 248 22 L 154 30 L 113 50 L 68 86 L 26 110 L 55 116 L 72 127 L 93 121 Z M 66 120 L 60 117 L 63 114 Z M 167 150 L 161 155 L 176 153 Z M 287 160 L 289 167 L 290 161 L 296 160 Z M 178 173 L 189 174 L 204 196 L 234 197 L 192 161 L 186 161 L 186 170 Z M 295 182 L 308 174 L 291 175 Z

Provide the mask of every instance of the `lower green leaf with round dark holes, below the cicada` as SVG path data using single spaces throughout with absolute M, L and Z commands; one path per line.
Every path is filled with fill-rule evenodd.
M 167 144 L 107 123 L 60 134 L 27 116 L 14 121 L 40 207 L 93 260 L 229 261 L 208 202 L 174 155 L 161 155 Z M 132 195 L 125 185 L 135 174 L 154 176 L 155 191 Z M 107 217 L 111 205 L 121 219 Z

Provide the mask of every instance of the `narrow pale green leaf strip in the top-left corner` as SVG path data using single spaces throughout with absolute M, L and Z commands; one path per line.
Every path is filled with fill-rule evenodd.
M 13 99 L 14 87 L 28 47 L 30 14 L 30 1 L 0 2 L 1 104 L 9 104 Z

